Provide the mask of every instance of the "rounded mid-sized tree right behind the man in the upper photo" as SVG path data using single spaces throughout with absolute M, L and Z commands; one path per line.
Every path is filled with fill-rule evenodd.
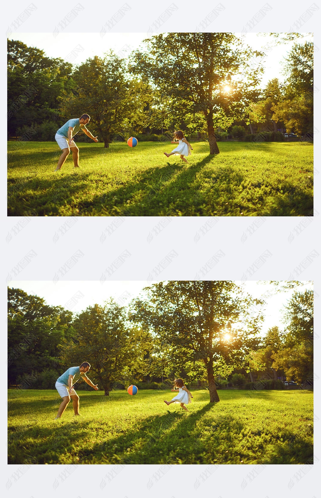
M 141 82 L 129 79 L 124 59 L 110 51 L 104 58 L 87 59 L 73 73 L 77 87 L 61 98 L 61 113 L 91 117 L 95 133 L 100 133 L 105 147 L 114 134 L 124 135 L 143 106 Z M 141 88 L 141 86 L 143 88 Z

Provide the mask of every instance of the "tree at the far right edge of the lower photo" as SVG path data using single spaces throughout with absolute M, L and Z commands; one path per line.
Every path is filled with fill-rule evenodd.
M 273 354 L 273 368 L 283 369 L 288 380 L 313 383 L 313 291 L 294 292 L 286 306 L 287 333 Z

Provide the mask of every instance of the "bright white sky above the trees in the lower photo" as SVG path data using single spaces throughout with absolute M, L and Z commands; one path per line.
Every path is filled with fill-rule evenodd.
M 154 283 L 154 282 L 152 282 Z M 241 282 L 236 281 L 238 285 Z M 88 306 L 94 304 L 103 305 L 109 297 L 113 297 L 120 305 L 127 305 L 131 299 L 137 297 L 144 287 L 148 286 L 146 280 L 115 280 L 105 281 L 103 284 L 99 281 L 11 281 L 10 287 L 19 288 L 27 294 L 36 294 L 43 297 L 50 306 L 63 306 L 75 313 L 85 310 Z M 265 334 L 270 327 L 275 325 L 280 329 L 284 327 L 282 323 L 283 306 L 291 298 L 294 290 L 287 292 L 275 293 L 275 286 L 272 284 L 263 284 L 257 281 L 246 281 L 243 283 L 244 290 L 253 297 L 266 300 L 265 321 L 262 332 Z M 312 289 L 313 285 L 305 283 L 297 290 Z M 269 295 L 272 294 L 272 295 Z

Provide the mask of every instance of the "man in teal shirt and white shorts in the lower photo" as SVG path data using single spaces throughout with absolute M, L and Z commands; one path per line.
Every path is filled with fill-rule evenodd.
M 73 400 L 75 415 L 79 415 L 79 396 L 73 388 L 73 384 L 75 384 L 80 379 L 80 377 L 82 377 L 88 385 L 91 385 L 96 391 L 98 391 L 97 384 L 94 385 L 86 375 L 86 372 L 88 372 L 89 369 L 89 363 L 84 362 L 80 365 L 80 367 L 70 367 L 68 370 L 66 370 L 66 372 L 64 372 L 62 375 L 60 375 L 60 377 L 57 378 L 56 389 L 62 397 L 62 402 L 59 406 L 55 420 L 56 418 L 60 418 L 64 413 L 70 401 L 70 398 Z M 76 379 L 75 382 L 73 382 L 74 379 Z

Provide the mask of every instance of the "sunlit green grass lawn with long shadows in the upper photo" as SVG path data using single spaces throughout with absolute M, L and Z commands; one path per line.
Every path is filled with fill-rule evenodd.
M 8 142 L 8 216 L 311 216 L 313 145 L 193 143 L 185 164 L 171 144 L 80 143 L 54 172 L 56 142 Z

